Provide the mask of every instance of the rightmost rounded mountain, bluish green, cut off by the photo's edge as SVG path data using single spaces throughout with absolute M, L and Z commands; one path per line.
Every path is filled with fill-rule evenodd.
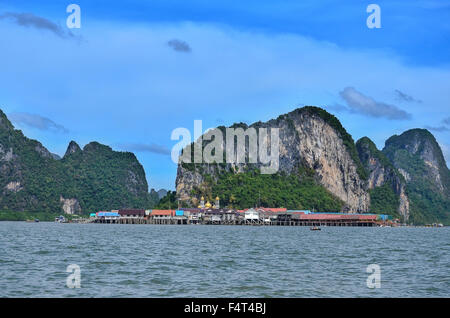
M 415 223 L 450 222 L 450 171 L 434 136 L 411 129 L 390 137 L 383 153 L 402 174 Z

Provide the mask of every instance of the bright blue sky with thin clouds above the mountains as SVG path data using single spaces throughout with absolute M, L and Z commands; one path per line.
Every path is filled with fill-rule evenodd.
M 72 139 L 133 151 L 156 189 L 174 189 L 173 129 L 302 105 L 379 148 L 429 128 L 449 162 L 450 2 L 377 1 L 381 29 L 366 26 L 370 3 L 1 1 L 0 107 L 59 155 Z

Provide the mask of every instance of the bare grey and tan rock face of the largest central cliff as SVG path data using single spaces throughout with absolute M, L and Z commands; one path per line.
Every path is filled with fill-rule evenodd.
M 366 212 L 370 196 L 366 173 L 352 137 L 333 115 L 317 107 L 303 107 L 266 123 L 258 122 L 233 128 L 279 128 L 279 170 L 277 175 L 291 175 L 299 168 L 314 171 L 315 183 L 345 204 L 342 209 Z M 221 128 L 223 129 L 223 128 Z M 269 144 L 269 140 L 267 140 Z M 226 142 L 223 141 L 223 149 Z M 270 147 L 268 145 L 268 147 Z M 248 150 L 248 145 L 246 150 Z M 176 189 L 179 199 L 189 201 L 197 189 L 208 192 L 220 175 L 260 169 L 256 163 L 178 165 Z M 208 179 L 212 179 L 208 182 Z M 238 190 L 237 190 L 238 191 Z M 281 205 L 284 205 L 281 203 Z

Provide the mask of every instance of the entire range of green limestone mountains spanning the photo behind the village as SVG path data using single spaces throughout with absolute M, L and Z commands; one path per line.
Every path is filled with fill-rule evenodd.
M 219 196 L 222 206 L 235 208 L 374 212 L 414 224 L 450 224 L 450 171 L 428 130 L 394 135 L 378 150 L 368 137 L 355 143 L 335 116 L 312 106 L 231 127 L 279 128 L 279 171 L 261 174 L 261 165 L 250 163 L 180 163 L 177 191 L 169 197 L 164 189 L 148 192 L 134 154 L 97 142 L 81 149 L 72 141 L 60 158 L 14 129 L 0 110 L 0 211 L 147 209 L 162 198 L 161 206 L 192 207 L 201 196 Z

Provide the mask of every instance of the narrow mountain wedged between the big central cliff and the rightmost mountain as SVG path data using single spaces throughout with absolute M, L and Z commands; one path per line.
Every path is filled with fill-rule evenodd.
M 410 213 L 409 199 L 403 176 L 368 137 L 359 139 L 356 142 L 356 148 L 368 173 L 367 187 L 372 201 L 371 211 L 394 215 L 398 213 L 403 220 L 407 221 Z M 390 202 L 393 206 L 388 208 L 389 198 L 393 201 Z M 377 199 L 382 202 L 377 202 Z M 379 203 L 378 206 L 376 206 L 377 203 Z

